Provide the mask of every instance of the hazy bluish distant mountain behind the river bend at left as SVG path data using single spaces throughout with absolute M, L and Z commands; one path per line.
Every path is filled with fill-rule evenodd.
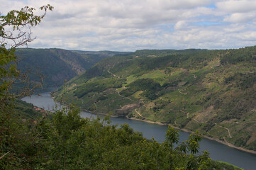
M 43 74 L 45 88 L 58 87 L 65 80 L 91 68 L 96 62 L 118 52 L 83 52 L 62 49 L 21 48 L 16 51 L 20 58 L 18 69 L 30 72 L 32 81 L 40 81 L 38 73 Z

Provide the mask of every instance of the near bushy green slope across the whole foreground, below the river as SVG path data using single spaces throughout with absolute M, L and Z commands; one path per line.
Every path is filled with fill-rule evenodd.
M 14 69 L 16 78 L 15 64 Z M 8 79 L 4 69 L 1 75 Z M 72 105 L 44 111 L 10 94 L 6 82 L 0 95 L 0 169 L 240 169 L 199 152 L 199 132 L 178 144 L 179 132 L 169 126 L 165 142 L 158 143 L 128 124 L 111 125 L 107 116 L 81 118 Z

